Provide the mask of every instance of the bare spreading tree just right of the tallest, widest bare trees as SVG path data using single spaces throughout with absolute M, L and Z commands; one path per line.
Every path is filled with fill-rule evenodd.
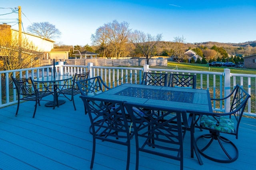
M 130 41 L 135 46 L 135 52 L 141 53 L 144 57 L 146 57 L 147 64 L 149 64 L 151 57 L 156 55 L 156 47 L 161 39 L 162 34 L 152 36 L 149 33 L 145 34 L 142 31 L 135 30 L 131 35 Z

